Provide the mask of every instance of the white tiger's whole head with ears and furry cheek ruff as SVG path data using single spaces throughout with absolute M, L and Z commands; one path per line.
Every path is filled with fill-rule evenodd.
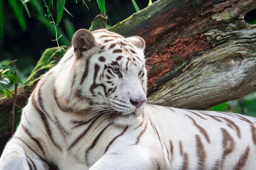
M 141 37 L 80 29 L 57 66 L 58 94 L 73 110 L 106 114 L 116 125 L 131 125 L 146 102 L 144 48 Z

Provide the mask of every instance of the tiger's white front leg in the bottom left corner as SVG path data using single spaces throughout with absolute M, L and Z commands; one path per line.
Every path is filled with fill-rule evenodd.
M 43 162 L 31 150 L 12 138 L 0 158 L 0 170 L 45 170 Z

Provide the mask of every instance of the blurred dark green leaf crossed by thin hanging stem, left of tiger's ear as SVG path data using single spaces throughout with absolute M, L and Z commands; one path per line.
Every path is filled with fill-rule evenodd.
M 43 24 L 49 29 L 49 31 L 50 31 L 53 35 L 56 34 L 54 25 L 53 25 L 53 24 L 50 24 L 50 23 L 48 22 L 48 20 L 47 20 L 44 16 L 40 16 L 40 15 L 39 15 L 37 18 L 38 18 L 38 20 L 39 20 L 41 23 L 43 23 Z M 70 44 L 71 44 L 70 40 L 63 34 L 63 32 L 61 31 L 61 29 L 58 28 L 58 27 L 57 27 L 56 29 L 57 29 L 57 34 L 58 34 L 58 35 L 62 35 L 62 37 L 59 39 L 59 41 L 61 42 L 61 45 L 70 46 Z

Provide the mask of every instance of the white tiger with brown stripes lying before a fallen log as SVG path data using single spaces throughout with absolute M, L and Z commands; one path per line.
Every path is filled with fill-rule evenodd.
M 38 82 L 0 170 L 255 170 L 256 119 L 146 105 L 145 42 L 76 32 Z

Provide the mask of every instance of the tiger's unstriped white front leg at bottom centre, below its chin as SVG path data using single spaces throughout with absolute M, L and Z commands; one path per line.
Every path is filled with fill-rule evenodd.
M 155 170 L 148 150 L 132 145 L 108 150 L 89 170 Z

